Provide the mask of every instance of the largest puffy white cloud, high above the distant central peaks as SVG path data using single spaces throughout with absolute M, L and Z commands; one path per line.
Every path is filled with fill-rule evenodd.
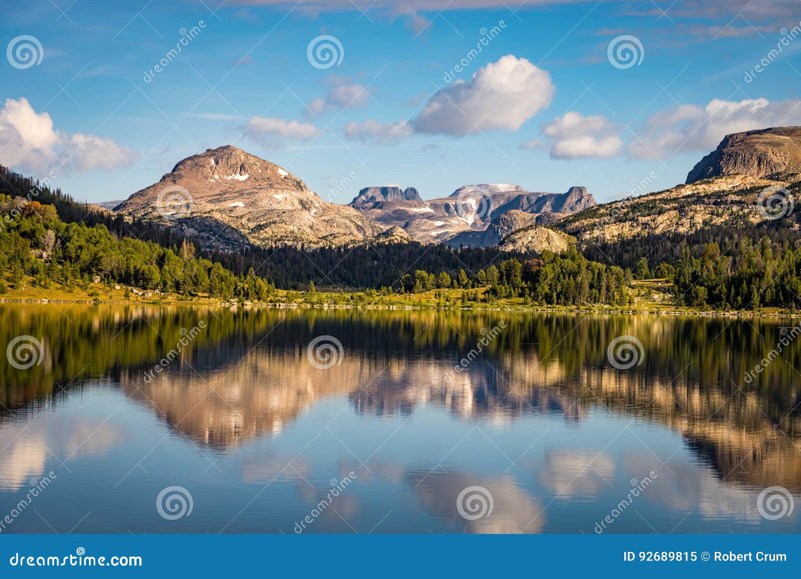
M 517 131 L 551 102 L 550 74 L 512 54 L 478 69 L 469 82 L 438 90 L 412 125 L 419 133 L 469 135 L 473 131 Z

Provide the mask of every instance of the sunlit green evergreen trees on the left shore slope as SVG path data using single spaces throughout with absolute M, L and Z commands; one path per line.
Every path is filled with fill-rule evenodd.
M 25 275 L 47 289 L 54 283 L 67 291 L 84 291 L 92 282 L 125 283 L 147 290 L 199 293 L 225 299 L 264 300 L 275 287 L 253 271 L 235 275 L 219 263 L 195 258 L 195 249 L 160 247 L 151 241 L 115 238 L 103 224 L 63 223 L 52 205 L 19 203 L 0 195 L 0 271 L 18 286 Z M 8 285 L 0 276 L 0 293 Z

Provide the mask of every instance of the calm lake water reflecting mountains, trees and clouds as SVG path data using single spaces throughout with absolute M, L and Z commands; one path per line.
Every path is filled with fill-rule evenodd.
M 2 533 L 801 532 L 791 320 L 0 316 Z

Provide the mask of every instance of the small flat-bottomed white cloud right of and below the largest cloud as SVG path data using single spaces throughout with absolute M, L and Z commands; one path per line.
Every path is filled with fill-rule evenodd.
M 603 115 L 582 116 L 570 111 L 542 126 L 550 139 L 551 159 L 614 157 L 623 145 L 618 131 Z

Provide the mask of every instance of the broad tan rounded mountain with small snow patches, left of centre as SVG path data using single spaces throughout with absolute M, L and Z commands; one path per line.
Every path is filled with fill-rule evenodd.
M 340 245 L 381 231 L 359 211 L 320 199 L 295 175 L 231 145 L 179 161 L 115 211 L 171 224 L 221 249 Z

